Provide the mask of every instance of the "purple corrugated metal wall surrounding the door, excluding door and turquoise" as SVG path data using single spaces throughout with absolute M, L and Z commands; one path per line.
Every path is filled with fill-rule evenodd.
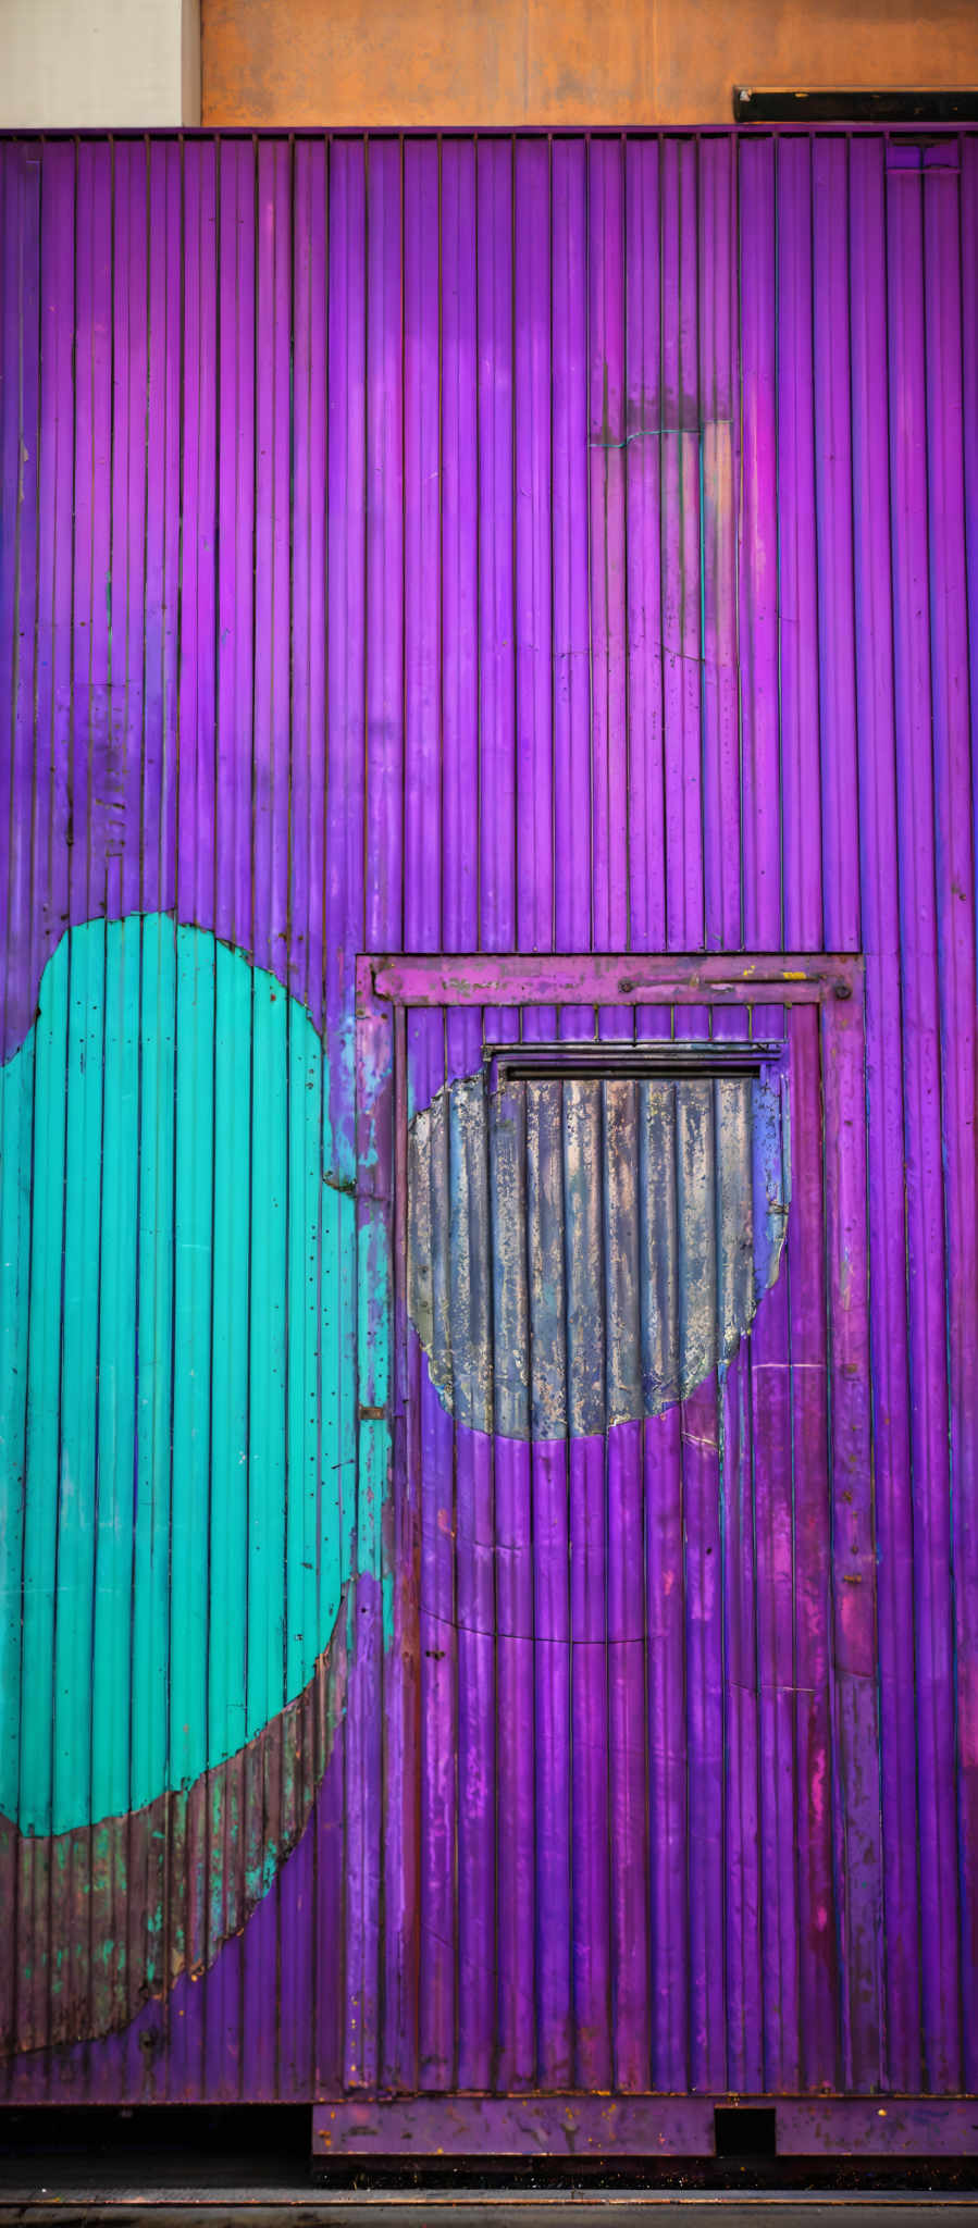
M 793 1900 L 822 1791 L 764 1733 L 804 1689 L 824 1504 L 760 1542 L 726 1667 L 751 1753 L 722 1751 L 753 1869 L 726 1851 L 708 1887 L 746 1963 L 706 2059 L 679 1974 L 668 2085 L 978 2090 L 978 138 L 9 140 L 0 189 L 7 1063 L 67 929 L 174 916 L 323 1032 L 343 1214 L 361 951 L 864 956 L 871 1457 L 842 1655 L 811 1671 L 849 1696 L 860 1789 L 827 1849 L 829 2054 Z M 365 1386 L 361 1352 L 383 1410 Z M 9 1524 L 20 1488 L 11 1455 Z M 370 1622 L 370 1493 L 341 1522 Z M 53 1854 L 27 1889 L 7 1831 L 4 1907 L 51 1945 L 42 1983 L 7 1961 L 11 2099 L 370 2085 L 361 1655 L 252 1916 L 114 2032 L 85 2039 L 94 1872 Z M 120 1865 L 116 1932 L 129 1909 Z

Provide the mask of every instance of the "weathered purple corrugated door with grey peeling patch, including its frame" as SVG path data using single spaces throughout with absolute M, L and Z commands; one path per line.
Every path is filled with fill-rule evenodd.
M 352 2085 L 452 2094 L 479 2141 L 532 2097 L 544 2146 L 568 2092 L 842 2088 L 873 1831 L 858 962 L 361 978 L 397 1339 Z

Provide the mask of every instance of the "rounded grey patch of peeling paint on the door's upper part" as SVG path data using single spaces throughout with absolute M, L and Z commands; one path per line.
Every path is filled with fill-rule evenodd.
M 789 1214 L 782 1078 L 506 1083 L 410 1123 L 408 1306 L 470 1430 L 561 1439 L 662 1415 L 728 1364 Z

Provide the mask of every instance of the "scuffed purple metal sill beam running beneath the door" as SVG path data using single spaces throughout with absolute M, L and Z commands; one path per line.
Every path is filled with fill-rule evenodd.
M 780 2157 L 969 2157 L 965 2097 L 388 2097 L 314 2105 L 312 2152 L 715 2157 L 717 2110 L 773 2114 Z

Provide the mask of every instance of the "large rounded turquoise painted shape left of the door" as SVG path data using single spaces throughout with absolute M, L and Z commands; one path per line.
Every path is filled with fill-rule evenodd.
M 25 1834 L 189 1787 L 330 1640 L 356 1234 L 327 1121 L 310 1016 L 241 951 L 160 913 L 62 938 L 0 1069 L 0 1811 Z

